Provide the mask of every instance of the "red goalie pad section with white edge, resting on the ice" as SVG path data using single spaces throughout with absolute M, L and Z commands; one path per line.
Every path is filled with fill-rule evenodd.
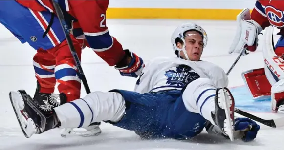
M 264 68 L 248 70 L 241 75 L 254 100 L 270 98 L 271 84 L 266 78 Z

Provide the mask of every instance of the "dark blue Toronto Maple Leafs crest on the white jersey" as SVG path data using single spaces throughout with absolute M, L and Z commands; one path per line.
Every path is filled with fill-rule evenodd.
M 179 65 L 176 67 L 176 71 L 166 71 L 165 75 L 168 77 L 167 84 L 181 87 L 200 77 L 197 72 L 187 65 Z

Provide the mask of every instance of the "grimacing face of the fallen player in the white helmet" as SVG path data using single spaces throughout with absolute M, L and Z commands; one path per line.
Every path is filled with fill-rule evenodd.
M 191 61 L 199 61 L 203 52 L 203 38 L 197 31 L 188 31 L 185 33 L 185 35 L 188 34 L 190 35 L 184 38 L 187 56 Z M 182 45 L 178 43 L 177 47 L 182 48 Z M 180 56 L 185 58 L 183 52 L 180 52 Z

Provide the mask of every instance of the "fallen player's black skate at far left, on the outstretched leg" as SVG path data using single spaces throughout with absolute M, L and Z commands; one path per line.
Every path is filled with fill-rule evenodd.
M 9 96 L 25 137 L 29 138 L 60 125 L 53 110 L 49 113 L 43 112 L 39 103 L 24 90 L 10 92 Z

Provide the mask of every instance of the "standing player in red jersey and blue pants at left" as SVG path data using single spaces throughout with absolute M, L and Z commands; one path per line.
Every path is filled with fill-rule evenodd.
M 85 43 L 110 66 L 115 66 L 121 75 L 137 77 L 141 74 L 143 60 L 129 50 L 123 50 L 122 45 L 109 34 L 106 25 L 108 0 L 58 2 L 66 22 L 70 23 L 69 28 L 73 29 L 71 39 L 79 57 L 81 45 Z M 52 1 L 1 1 L 0 5 L 0 23 L 22 43 L 28 42 L 37 50 L 33 58 L 37 78 L 34 98 L 41 101 L 41 108 L 49 112 L 59 105 L 59 96 L 53 94 L 56 82 L 59 83 L 61 101 L 80 98 L 81 80 Z

